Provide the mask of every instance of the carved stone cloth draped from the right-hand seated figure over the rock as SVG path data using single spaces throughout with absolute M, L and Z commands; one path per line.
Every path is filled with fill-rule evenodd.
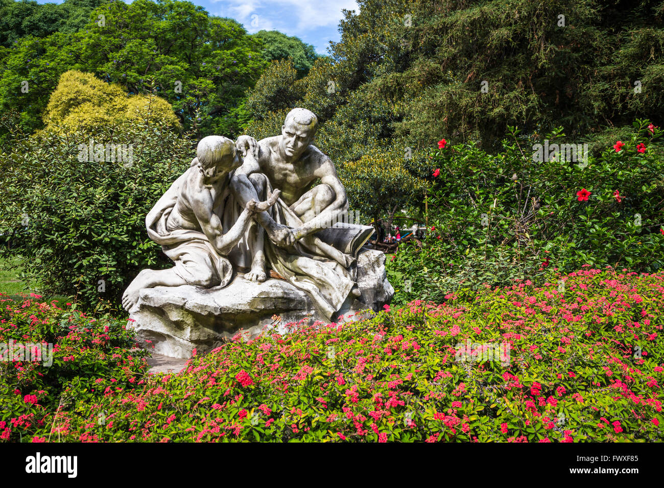
M 272 185 L 269 181 L 267 181 L 267 185 L 268 193 L 272 193 Z M 234 212 L 231 212 L 232 208 L 234 208 Z M 226 204 L 224 210 L 225 226 L 226 222 L 237 218 L 236 214 L 240 208 L 237 205 Z M 302 220 L 282 199 L 278 199 L 277 203 L 268 209 L 268 213 L 278 224 L 293 228 L 303 224 Z M 239 269 L 248 270 L 252 264 L 252 258 L 258 250 L 256 228 L 254 227 L 256 225 L 258 225 L 256 222 L 252 224 L 229 255 L 230 260 Z M 345 229 L 341 228 L 339 232 L 343 233 Z M 268 236 L 264 236 L 264 252 L 268 268 L 272 268 L 293 286 L 305 291 L 325 317 L 335 319 L 335 313 L 341 310 L 355 285 L 357 268 L 355 257 L 345 254 L 321 240 L 324 234 L 324 231 L 319 231 L 305 236 L 290 248 L 276 246 Z M 368 238 L 369 236 L 366 239 Z M 366 239 L 358 247 L 361 247 Z M 357 255 L 357 252 L 354 254 Z

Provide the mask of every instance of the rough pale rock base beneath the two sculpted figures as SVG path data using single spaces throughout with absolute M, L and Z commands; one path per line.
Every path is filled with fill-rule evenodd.
M 394 295 L 385 274 L 382 252 L 363 248 L 357 258 L 359 299 L 351 297 L 339 315 L 359 311 L 378 311 Z M 203 287 L 183 285 L 141 289 L 139 301 L 129 319 L 137 339 L 149 351 L 160 355 L 189 358 L 193 349 L 205 353 L 224 344 L 243 329 L 255 337 L 280 315 L 276 327 L 286 332 L 287 323 L 315 321 L 328 323 L 304 291 L 284 280 L 250 282 L 238 274 L 230 285 L 210 291 Z M 336 318 L 336 317 L 335 317 Z M 359 316 L 347 317 L 357 319 Z M 151 341 L 151 342 L 148 342 Z M 154 346 L 154 347 L 152 347 Z

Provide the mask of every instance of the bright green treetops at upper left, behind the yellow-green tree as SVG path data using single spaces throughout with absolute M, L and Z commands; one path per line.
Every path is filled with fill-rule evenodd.
M 244 92 L 266 65 L 261 46 L 236 21 L 189 2 L 112 1 L 80 31 L 27 35 L 0 48 L 0 110 L 20 112 L 26 130 L 41 127 L 60 74 L 74 69 L 129 94 L 153 91 L 185 127 L 232 136 L 247 120 Z

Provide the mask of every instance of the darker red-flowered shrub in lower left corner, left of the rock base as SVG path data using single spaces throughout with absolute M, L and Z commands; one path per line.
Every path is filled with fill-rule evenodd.
M 51 434 L 60 435 L 51 430 L 54 415 L 101 394 L 100 378 L 114 388 L 133 388 L 136 374 L 147 366 L 145 351 L 131 350 L 125 321 L 87 317 L 40 298 L 31 293 L 17 301 L 0 293 L 2 440 L 38 435 L 52 440 Z M 30 351 L 26 357 L 23 345 L 41 355 Z

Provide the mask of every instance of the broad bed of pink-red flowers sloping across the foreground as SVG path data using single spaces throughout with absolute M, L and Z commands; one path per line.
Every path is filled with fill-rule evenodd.
M 94 395 L 55 420 L 43 411 L 30 432 L 120 442 L 662 440 L 664 274 L 585 267 L 556 278 L 564 286 L 515 282 L 471 303 L 448 295 L 238 339 L 135 388 L 118 387 L 129 371 L 98 378 Z M 467 341 L 475 351 L 505 343 L 509 360 L 460 361 Z

